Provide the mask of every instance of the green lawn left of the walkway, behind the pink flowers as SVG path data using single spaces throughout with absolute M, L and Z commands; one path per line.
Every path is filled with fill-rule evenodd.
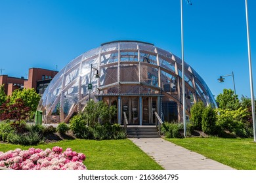
M 41 144 L 34 148 L 53 148 L 60 146 L 63 150 L 72 148 L 76 152 L 83 152 L 87 157 L 84 161 L 89 170 L 161 170 L 163 169 L 147 154 L 142 152 L 133 142 L 125 140 L 65 140 L 51 144 Z M 14 144 L 0 144 L 0 151 L 7 152 L 21 148 L 26 150 L 30 146 Z

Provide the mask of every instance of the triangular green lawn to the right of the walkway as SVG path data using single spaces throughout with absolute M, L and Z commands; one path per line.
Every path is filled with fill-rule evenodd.
M 253 139 L 184 138 L 166 139 L 235 169 L 256 170 Z

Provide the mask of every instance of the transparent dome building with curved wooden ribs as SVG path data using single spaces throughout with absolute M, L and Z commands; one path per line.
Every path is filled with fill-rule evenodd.
M 37 110 L 43 121 L 68 122 L 89 99 L 117 107 L 114 122 L 155 124 L 154 112 L 165 121 L 182 121 L 181 59 L 147 42 L 101 44 L 70 61 L 45 90 Z M 185 63 L 186 114 L 196 101 L 217 106 L 202 77 Z

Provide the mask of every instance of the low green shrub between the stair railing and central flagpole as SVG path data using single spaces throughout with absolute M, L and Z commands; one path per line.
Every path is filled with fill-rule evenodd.
M 175 123 L 164 123 L 167 127 L 167 130 L 163 125 L 161 125 L 161 133 L 165 135 L 167 138 L 181 138 L 181 131 L 183 129 L 183 124 L 175 124 Z

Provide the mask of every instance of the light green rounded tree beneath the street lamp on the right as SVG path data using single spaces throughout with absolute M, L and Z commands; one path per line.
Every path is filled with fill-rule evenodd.
M 237 110 L 240 107 L 238 95 L 235 95 L 231 89 L 224 89 L 223 93 L 217 96 L 216 101 L 222 109 Z

